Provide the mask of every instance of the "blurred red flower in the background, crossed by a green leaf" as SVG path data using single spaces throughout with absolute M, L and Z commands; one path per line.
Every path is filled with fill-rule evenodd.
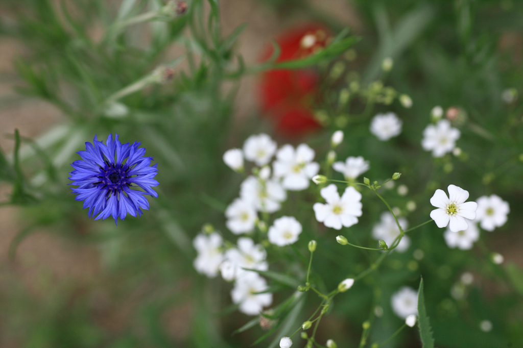
M 282 34 L 276 39 L 281 48 L 277 62 L 306 57 L 326 45 L 328 30 L 310 24 Z M 272 45 L 262 60 L 272 55 Z M 317 99 L 319 76 L 314 69 L 275 69 L 261 75 L 261 108 L 276 123 L 277 130 L 287 135 L 302 135 L 318 129 L 311 106 Z

